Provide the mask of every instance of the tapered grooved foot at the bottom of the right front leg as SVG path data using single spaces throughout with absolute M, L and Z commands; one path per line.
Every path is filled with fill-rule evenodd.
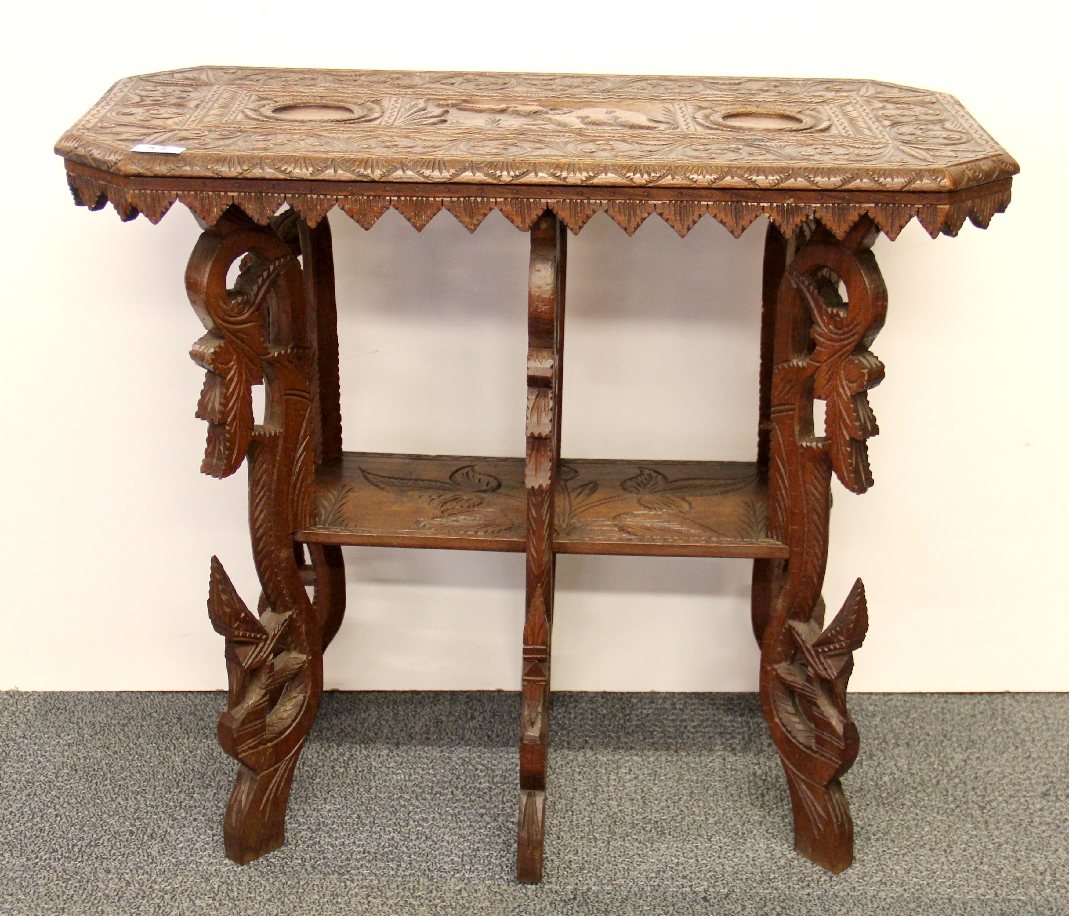
M 810 782 L 784 764 L 794 813 L 794 851 L 833 874 L 854 860 L 854 822 L 838 779 Z

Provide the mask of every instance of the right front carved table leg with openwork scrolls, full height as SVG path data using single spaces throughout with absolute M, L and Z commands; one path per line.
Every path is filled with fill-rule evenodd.
M 774 305 L 769 521 L 791 554 L 763 628 L 761 702 L 790 788 L 794 848 L 833 872 L 853 861 L 839 778 L 857 755 L 846 692 L 868 616 L 857 580 L 823 629 L 820 593 L 832 472 L 855 493 L 872 484 L 865 440 L 878 429 L 865 392 L 883 366 L 868 346 L 887 302 L 869 250 L 876 234 L 867 216 L 841 242 L 823 227 L 804 227 L 789 261 L 785 249 Z M 812 428 L 815 397 L 825 401 L 823 436 Z

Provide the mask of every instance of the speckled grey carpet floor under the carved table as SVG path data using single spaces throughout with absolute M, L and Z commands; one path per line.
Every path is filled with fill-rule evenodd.
M 854 694 L 856 862 L 791 850 L 757 698 L 558 693 L 546 876 L 512 880 L 518 700 L 330 693 L 288 844 L 222 855 L 218 693 L 0 693 L 0 913 L 1069 914 L 1069 694 Z

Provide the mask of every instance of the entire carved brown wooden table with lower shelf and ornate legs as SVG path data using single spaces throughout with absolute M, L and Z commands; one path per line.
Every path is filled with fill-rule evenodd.
M 191 353 L 207 370 L 202 470 L 248 460 L 263 586 L 253 614 L 213 558 L 208 612 L 230 675 L 219 741 L 239 762 L 230 858 L 283 842 L 347 544 L 526 552 L 525 882 L 542 874 L 555 555 L 752 558 L 795 849 L 850 865 L 839 778 L 857 754 L 846 689 L 867 616 L 858 580 L 824 628 L 830 484 L 872 484 L 878 233 L 916 217 L 954 235 L 1010 199 L 1017 164 L 956 100 L 854 80 L 199 67 L 118 82 L 57 152 L 78 203 L 156 223 L 180 200 L 204 228 L 186 272 L 207 331 Z M 342 452 L 323 218 L 336 205 L 366 229 L 392 207 L 417 230 L 445 209 L 471 231 L 496 208 L 530 233 L 525 459 Z M 756 462 L 560 458 L 566 230 L 601 210 L 629 234 L 654 213 L 680 235 L 707 213 L 735 236 L 769 217 Z

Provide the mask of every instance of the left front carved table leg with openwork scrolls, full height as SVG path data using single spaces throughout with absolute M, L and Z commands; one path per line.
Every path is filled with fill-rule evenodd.
M 227 273 L 238 259 L 241 273 L 228 290 Z M 258 617 L 213 558 L 208 613 L 227 639 L 230 680 L 219 742 L 241 764 L 223 833 L 227 855 L 244 865 L 284 841 L 290 783 L 323 688 L 323 621 L 305 591 L 292 537 L 312 519 L 313 350 L 300 263 L 276 226 L 229 210 L 197 243 L 186 287 L 207 329 L 191 353 L 207 369 L 197 412 L 210 424 L 202 470 L 224 477 L 248 458 L 249 525 L 263 590 Z M 251 386 L 261 382 L 266 412 L 253 425 Z M 331 577 L 324 571 L 322 584 Z M 332 620 L 337 599 L 324 601 Z

